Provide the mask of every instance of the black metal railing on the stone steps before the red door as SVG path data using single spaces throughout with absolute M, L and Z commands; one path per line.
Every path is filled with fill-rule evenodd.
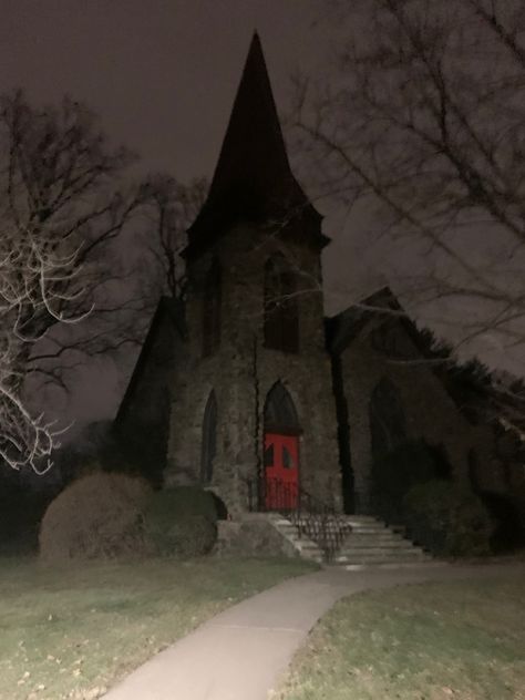
M 277 512 L 287 517 L 297 527 L 299 537 L 308 537 L 319 546 L 326 562 L 333 559 L 352 529 L 333 507 L 295 483 L 260 478 L 248 481 L 247 486 L 251 512 Z

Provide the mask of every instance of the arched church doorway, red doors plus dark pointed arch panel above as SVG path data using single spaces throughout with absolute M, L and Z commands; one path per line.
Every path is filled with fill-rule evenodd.
M 294 401 L 279 381 L 265 402 L 264 505 L 267 511 L 297 507 L 300 432 Z

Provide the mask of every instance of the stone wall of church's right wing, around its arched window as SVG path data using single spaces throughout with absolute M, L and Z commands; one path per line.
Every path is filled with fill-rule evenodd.
M 342 391 L 348 406 L 350 457 L 358 509 L 370 509 L 370 474 L 372 464 L 370 398 L 383 378 L 397 387 L 406 418 L 406 437 L 423 439 L 441 445 L 459 485 L 471 487 L 469 452 L 475 450 L 481 486 L 503 492 L 501 465 L 494 459 L 493 434 L 487 426 L 471 424 L 446 392 L 431 366 L 421 356 L 408 334 L 403 343 L 412 361 L 392 360 L 371 341 L 380 321 L 370 321 L 341 352 Z M 398 332 L 404 333 L 402 329 Z

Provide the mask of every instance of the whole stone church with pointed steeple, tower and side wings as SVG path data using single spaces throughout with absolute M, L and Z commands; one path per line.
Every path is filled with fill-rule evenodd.
M 207 199 L 187 233 L 184 302 L 161 300 L 116 426 L 158 483 L 228 513 L 372 509 L 374 450 L 422 439 L 459 483 L 503 488 L 491 435 L 457 409 L 383 289 L 326 319 L 321 216 L 290 169 L 254 37 Z M 382 312 L 384 309 L 388 312 Z M 393 311 L 393 313 L 391 312 Z

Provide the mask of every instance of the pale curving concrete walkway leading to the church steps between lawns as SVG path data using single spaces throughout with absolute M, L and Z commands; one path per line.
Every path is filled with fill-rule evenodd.
M 317 620 L 342 596 L 405 583 L 525 576 L 525 563 L 323 569 L 229 608 L 136 669 L 104 700 L 267 700 Z

